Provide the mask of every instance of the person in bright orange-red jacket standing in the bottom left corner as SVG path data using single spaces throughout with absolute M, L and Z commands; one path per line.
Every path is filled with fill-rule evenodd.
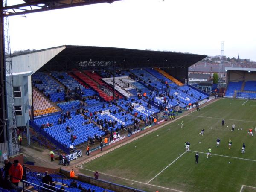
M 11 168 L 9 169 L 9 175 L 11 177 L 11 181 L 16 186 L 19 186 L 19 182 L 22 179 L 23 169 L 19 163 L 19 160 L 15 159 Z

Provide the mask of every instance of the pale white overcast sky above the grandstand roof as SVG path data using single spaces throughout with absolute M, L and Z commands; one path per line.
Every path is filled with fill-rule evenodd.
M 255 7 L 255 0 L 123 0 L 11 16 L 11 50 L 66 44 L 214 56 L 224 41 L 227 57 L 256 61 Z

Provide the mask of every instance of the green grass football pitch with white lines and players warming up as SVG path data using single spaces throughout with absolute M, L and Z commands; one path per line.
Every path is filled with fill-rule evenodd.
M 97 170 L 102 179 L 146 191 L 239 192 L 242 185 L 256 187 L 256 101 L 245 101 L 220 99 L 82 164 L 81 172 L 92 175 L 88 170 Z M 235 131 L 231 131 L 232 124 Z M 202 128 L 204 136 L 198 135 Z M 253 128 L 253 137 L 247 133 L 249 128 Z M 217 137 L 221 140 L 219 147 Z M 230 150 L 229 139 L 233 142 Z M 191 143 L 190 150 L 200 152 L 198 164 L 195 152 L 184 153 L 186 141 Z M 243 142 L 245 154 L 241 154 Z M 212 157 L 207 159 L 204 153 L 209 147 Z

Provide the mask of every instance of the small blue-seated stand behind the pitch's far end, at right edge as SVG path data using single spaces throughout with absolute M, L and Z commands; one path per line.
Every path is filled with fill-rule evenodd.
M 224 97 L 237 99 L 256 99 L 255 68 L 225 67 L 227 88 Z

